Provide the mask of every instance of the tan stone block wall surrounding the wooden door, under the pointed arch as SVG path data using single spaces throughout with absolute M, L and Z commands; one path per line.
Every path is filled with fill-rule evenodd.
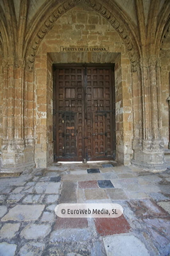
M 61 46 L 108 46 L 109 52 L 61 53 Z M 35 161 L 37 166 L 45 166 L 52 161 L 52 132 L 50 132 L 52 129 L 52 70 L 50 70 L 52 63 L 49 61 L 49 55 L 52 63 L 115 63 L 117 159 L 123 164 L 130 164 L 132 82 L 128 53 L 118 32 L 111 24 L 95 11 L 81 5 L 68 11 L 55 23 L 38 49 L 35 60 L 37 88 L 35 90 L 35 137 L 37 137 Z M 42 66 L 43 63 L 44 66 Z

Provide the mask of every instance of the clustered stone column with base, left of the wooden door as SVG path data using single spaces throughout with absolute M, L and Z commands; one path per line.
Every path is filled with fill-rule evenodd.
M 16 58 L 3 62 L 3 134 L 0 176 L 18 176 L 34 166 L 25 158 L 26 142 L 23 125 L 23 91 L 25 62 Z

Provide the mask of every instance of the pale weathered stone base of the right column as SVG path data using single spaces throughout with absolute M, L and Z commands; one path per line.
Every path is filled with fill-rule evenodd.
M 162 140 L 142 141 L 135 146 L 132 164 L 148 171 L 165 171 L 164 144 Z

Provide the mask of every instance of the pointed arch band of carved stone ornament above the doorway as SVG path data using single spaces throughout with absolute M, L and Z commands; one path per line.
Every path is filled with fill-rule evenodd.
M 91 9 L 98 12 L 98 14 L 101 14 L 103 18 L 106 18 L 106 20 L 111 23 L 111 26 L 115 28 L 115 31 L 119 33 L 128 50 L 132 66 L 132 72 L 136 71 L 138 68 L 138 60 L 140 55 L 136 39 L 134 38 L 134 36 L 132 36 L 130 29 L 125 26 L 125 23 L 123 23 L 123 21 L 121 21 L 120 18 L 117 17 L 118 15 L 115 14 L 113 9 L 109 8 L 101 1 L 97 0 L 67 0 L 55 7 L 55 9 L 52 11 L 52 14 L 45 18 L 42 26 L 38 29 L 38 31 L 36 31 L 36 33 L 34 34 L 35 36 L 32 38 L 29 45 L 27 46 L 26 63 L 28 70 L 33 70 L 35 55 L 38 47 L 40 46 L 42 39 L 45 37 L 48 31 L 50 31 L 51 28 L 54 26 L 55 21 L 57 21 L 63 14 L 67 13 L 67 11 L 74 8 L 74 6 L 77 6 L 77 4 L 81 2 L 91 7 Z

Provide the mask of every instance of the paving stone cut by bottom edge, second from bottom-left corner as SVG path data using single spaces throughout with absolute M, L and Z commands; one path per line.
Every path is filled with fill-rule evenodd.
M 45 244 L 41 242 L 27 242 L 18 252 L 19 256 L 41 256 Z

